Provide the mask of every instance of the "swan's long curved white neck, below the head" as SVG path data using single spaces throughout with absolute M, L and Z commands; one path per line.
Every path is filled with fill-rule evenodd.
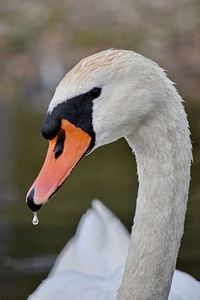
M 136 213 L 118 300 L 168 298 L 188 199 L 192 159 L 180 96 L 126 137 L 139 178 Z M 158 126 L 158 124 L 160 124 Z

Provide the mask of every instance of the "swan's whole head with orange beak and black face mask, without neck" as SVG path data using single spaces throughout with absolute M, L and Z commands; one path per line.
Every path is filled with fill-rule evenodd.
M 99 52 L 69 71 L 42 126 L 49 148 L 27 194 L 29 207 L 47 202 L 86 153 L 137 130 L 162 106 L 157 99 L 167 80 L 156 63 L 127 50 Z

